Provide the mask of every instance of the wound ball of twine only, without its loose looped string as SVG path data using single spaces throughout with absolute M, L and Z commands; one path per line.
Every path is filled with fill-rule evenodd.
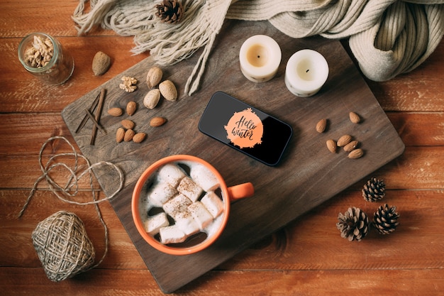
M 83 221 L 74 213 L 57 212 L 35 227 L 33 245 L 48 278 L 72 278 L 94 263 L 94 246 Z

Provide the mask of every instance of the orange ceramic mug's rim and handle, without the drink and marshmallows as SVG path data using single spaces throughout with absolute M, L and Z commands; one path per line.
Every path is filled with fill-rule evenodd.
M 197 243 L 180 243 L 180 244 L 168 244 L 165 245 L 160 243 L 158 239 L 154 236 L 148 234 L 145 231 L 145 227 L 143 226 L 143 219 L 140 214 L 140 199 L 145 197 L 148 194 L 148 185 L 150 178 L 159 170 L 163 165 L 167 163 L 199 163 L 204 165 L 207 169 L 209 169 L 212 174 L 217 178 L 218 183 L 221 189 L 221 197 L 223 199 L 223 213 L 221 214 L 221 223 L 218 224 L 218 228 L 216 231 L 212 231 L 211 235 L 206 237 L 203 241 L 198 241 Z M 192 253 L 199 252 L 204 248 L 210 246 L 219 236 L 221 236 L 223 229 L 225 228 L 228 216 L 230 214 L 230 204 L 236 199 L 241 199 L 243 197 L 250 197 L 254 194 L 253 186 L 250 182 L 243 183 L 240 185 L 235 185 L 233 187 L 227 187 L 226 182 L 223 180 L 221 174 L 216 170 L 212 165 L 207 163 L 205 160 L 201 158 L 197 158 L 192 155 L 171 155 L 160 160 L 157 160 L 155 163 L 150 165 L 149 168 L 142 173 L 139 177 L 138 182 L 135 184 L 133 190 L 133 198 L 131 201 L 131 211 L 133 213 L 133 221 L 135 227 L 138 229 L 140 236 L 147 241 L 150 246 L 156 248 L 158 251 L 162 251 L 163 253 L 168 253 L 171 255 L 188 255 Z

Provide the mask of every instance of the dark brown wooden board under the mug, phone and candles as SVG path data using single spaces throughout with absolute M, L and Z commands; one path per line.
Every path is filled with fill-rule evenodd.
M 271 36 L 282 49 L 277 76 L 262 84 L 243 77 L 238 60 L 240 46 L 256 34 Z M 304 48 L 324 55 L 330 67 L 321 92 L 309 98 L 295 97 L 284 84 L 287 60 Z M 125 173 L 124 188 L 111 199 L 111 204 L 160 289 L 167 293 L 215 268 L 404 151 L 404 143 L 337 40 L 293 39 L 268 22 L 227 21 L 214 44 L 199 92 L 187 97 L 183 95 L 184 85 L 199 55 L 200 51 L 189 60 L 162 67 L 165 79 L 178 87 L 181 95 L 177 102 L 163 100 L 153 110 L 143 106 L 143 97 L 148 92 L 145 77 L 155 64 L 148 57 L 62 111 L 77 145 L 91 163 L 111 161 Z M 126 93 L 119 89 L 122 76 L 138 79 L 138 90 Z M 102 88 L 107 94 L 100 122 L 106 133 L 99 131 L 95 145 L 91 146 L 91 121 L 79 133 L 74 131 L 84 117 L 84 109 Z M 216 91 L 231 94 L 292 126 L 294 134 L 279 165 L 264 165 L 199 132 L 200 116 Z M 133 116 L 115 118 L 106 113 L 111 107 L 125 108 L 130 100 L 138 104 Z M 350 111 L 360 114 L 362 123 L 352 124 L 348 119 Z M 153 116 L 165 117 L 167 124 L 150 127 Z M 135 131 L 148 133 L 143 143 L 116 143 L 115 131 L 126 118 L 135 122 Z M 315 130 L 320 119 L 328 119 L 325 133 Z M 328 138 L 338 139 L 344 134 L 360 141 L 365 150 L 362 158 L 352 160 L 343 150 L 335 154 L 327 150 Z M 172 154 L 196 155 L 209 161 L 229 186 L 242 182 L 252 182 L 255 186 L 254 197 L 233 204 L 223 236 L 210 248 L 189 256 L 170 256 L 151 248 L 139 236 L 131 216 L 131 192 L 138 176 L 155 160 Z M 116 190 L 116 175 L 110 168 L 94 173 L 105 194 L 109 196 Z

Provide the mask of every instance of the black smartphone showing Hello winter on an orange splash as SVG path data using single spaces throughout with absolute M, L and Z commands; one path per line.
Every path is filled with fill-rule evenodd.
M 225 92 L 213 94 L 199 131 L 270 166 L 279 163 L 293 134 L 289 124 Z

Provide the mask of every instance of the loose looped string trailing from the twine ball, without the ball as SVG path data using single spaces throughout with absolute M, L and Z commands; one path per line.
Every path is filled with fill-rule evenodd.
M 46 146 L 48 146 L 49 143 L 52 143 L 53 141 L 56 141 L 56 140 L 65 141 L 65 143 L 67 143 L 68 146 L 70 146 L 70 148 L 72 149 L 72 152 L 70 152 L 70 153 L 59 153 L 59 154 L 52 155 L 48 159 L 48 162 L 45 165 L 43 165 L 43 152 L 44 152 Z M 60 157 L 73 157 L 74 158 L 73 168 L 70 168 L 65 163 L 57 162 L 56 159 L 60 158 Z M 48 182 L 50 191 L 53 194 L 55 194 L 57 196 L 57 198 L 62 200 L 63 202 L 67 202 L 67 203 L 70 203 L 70 204 L 77 204 L 77 205 L 94 204 L 94 207 L 96 208 L 97 215 L 99 216 L 99 221 L 100 221 L 101 225 L 104 227 L 104 232 L 105 232 L 105 250 L 104 250 L 104 255 L 101 257 L 101 259 L 95 265 L 91 266 L 89 269 L 95 268 L 102 261 L 104 261 L 106 253 L 108 253 L 108 245 L 109 245 L 108 227 L 106 226 L 105 221 L 104 221 L 104 219 L 103 219 L 103 217 L 101 215 L 101 212 L 100 212 L 100 209 L 99 209 L 99 203 L 100 202 L 105 202 L 106 200 L 109 200 L 109 199 L 112 199 L 113 197 L 116 196 L 116 194 L 118 192 L 120 192 L 120 190 L 123 188 L 123 172 L 116 165 L 114 165 L 113 163 L 109 163 L 107 161 L 101 161 L 99 163 L 94 163 L 93 165 L 91 165 L 89 163 L 89 160 L 87 160 L 87 158 L 85 158 L 84 155 L 78 154 L 76 152 L 74 146 L 72 146 L 72 144 L 70 143 L 70 141 L 68 141 L 67 138 L 65 138 L 63 136 L 54 136 L 54 137 L 48 138 L 48 140 L 45 141 L 45 143 L 43 143 L 42 147 L 40 148 L 40 152 L 39 152 L 39 155 L 38 155 L 38 160 L 39 160 L 40 170 L 42 170 L 43 173 L 42 173 L 42 175 L 40 175 L 40 177 L 38 177 L 37 180 L 35 180 L 33 188 L 30 190 L 30 193 L 28 195 L 28 198 L 26 199 L 25 204 L 23 205 L 21 211 L 18 213 L 18 218 L 20 218 L 23 215 L 23 213 L 25 212 L 25 210 L 28 207 L 28 204 L 30 203 L 30 200 L 32 199 L 35 191 L 37 191 L 38 184 L 43 179 L 46 179 L 46 181 Z M 82 172 L 78 171 L 79 170 L 79 160 L 84 160 L 84 162 L 87 163 L 87 168 L 85 168 Z M 98 168 L 98 167 L 101 167 L 101 166 L 104 166 L 104 165 L 113 168 L 113 170 L 116 170 L 120 180 L 119 180 L 119 183 L 118 183 L 118 188 L 117 188 L 117 190 L 115 192 L 113 192 L 113 194 L 109 195 L 109 197 L 104 197 L 102 199 L 97 199 L 96 198 L 96 192 L 94 191 L 93 172 L 92 172 L 92 170 L 94 168 Z M 65 186 L 59 185 L 50 176 L 50 172 L 52 170 L 54 170 L 55 168 L 60 168 L 60 167 L 65 168 L 70 173 L 70 177 L 68 178 L 67 183 L 65 184 Z M 89 186 L 91 188 L 92 201 L 91 202 L 76 202 L 74 200 L 67 199 L 66 197 L 63 197 L 62 194 L 65 194 L 65 196 L 68 196 L 68 197 L 75 197 L 77 195 L 77 193 L 79 192 L 79 180 L 82 179 L 82 177 L 88 177 L 89 178 Z

